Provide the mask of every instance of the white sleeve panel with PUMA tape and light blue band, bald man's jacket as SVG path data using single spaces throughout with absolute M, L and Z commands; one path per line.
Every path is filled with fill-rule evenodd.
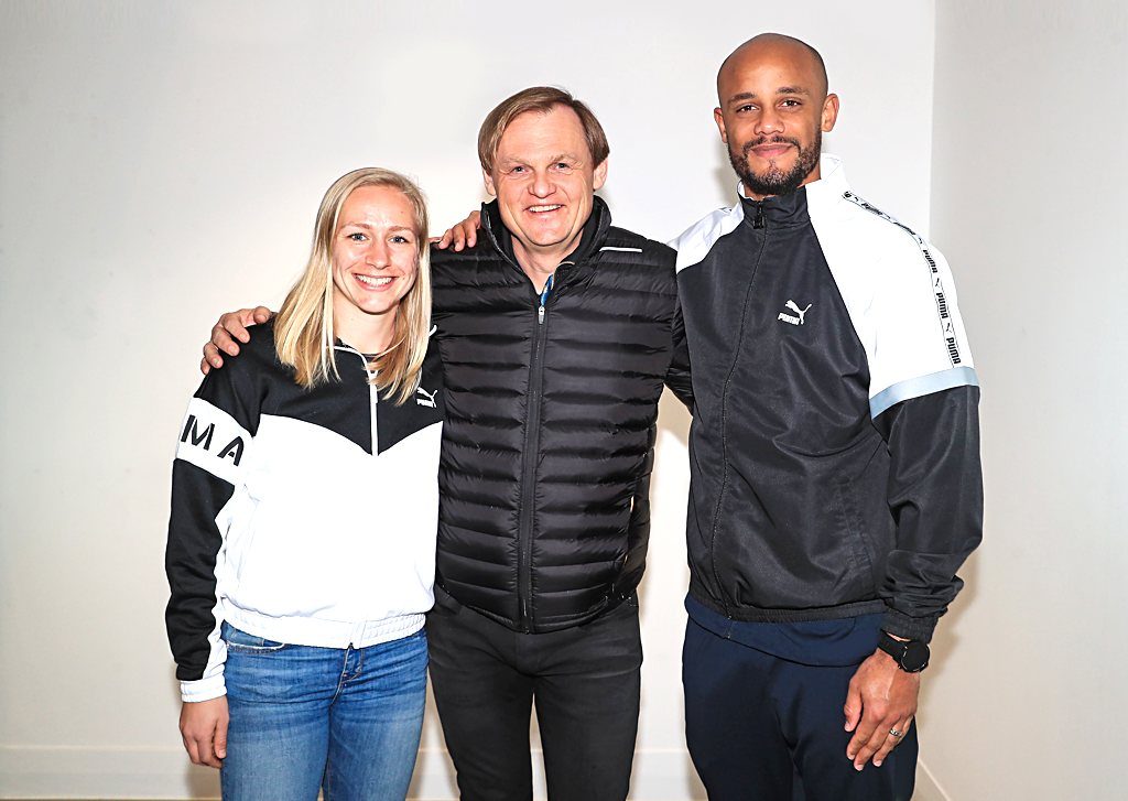
M 813 211 L 813 209 L 812 209 Z M 870 367 L 870 412 L 978 380 L 948 262 L 922 237 L 856 195 L 816 234 Z

